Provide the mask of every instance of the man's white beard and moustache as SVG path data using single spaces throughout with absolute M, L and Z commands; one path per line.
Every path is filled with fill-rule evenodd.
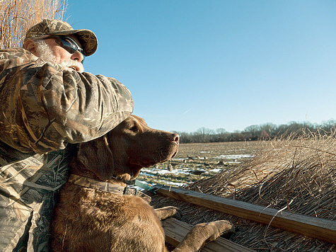
M 36 43 L 36 54 L 37 57 L 40 57 L 45 62 L 55 63 L 56 57 L 52 50 L 50 49 L 49 45 L 45 42 L 45 40 L 37 40 Z M 69 59 L 65 62 L 61 62 L 60 65 L 62 67 L 66 67 L 66 69 L 69 69 L 71 71 L 76 71 L 75 69 L 71 67 L 79 67 L 79 72 L 84 71 L 83 64 L 81 62 L 77 62 L 76 60 Z

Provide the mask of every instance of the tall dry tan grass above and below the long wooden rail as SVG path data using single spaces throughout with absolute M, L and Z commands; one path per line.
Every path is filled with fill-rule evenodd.
M 189 185 L 190 190 L 335 221 L 336 132 L 260 142 L 241 166 Z M 257 251 L 333 251 L 332 244 L 257 224 L 185 202 L 153 197 L 153 205 L 176 205 L 190 224 L 230 219 L 234 241 Z

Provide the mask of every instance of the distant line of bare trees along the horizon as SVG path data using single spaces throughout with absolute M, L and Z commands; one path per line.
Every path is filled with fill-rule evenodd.
M 210 130 L 201 127 L 195 132 L 177 132 L 180 134 L 181 143 L 197 142 L 236 142 L 236 141 L 257 141 L 268 140 L 279 137 L 299 137 L 307 132 L 320 135 L 332 134 L 336 130 L 336 120 L 323 122 L 322 125 L 311 122 L 289 122 L 286 125 L 274 125 L 266 123 L 263 125 L 250 125 L 242 131 L 227 132 L 224 128 Z

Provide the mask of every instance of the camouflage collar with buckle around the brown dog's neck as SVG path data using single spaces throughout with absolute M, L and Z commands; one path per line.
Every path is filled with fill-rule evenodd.
M 71 174 L 69 176 L 68 182 L 75 185 L 81 185 L 84 188 L 101 190 L 103 192 L 113 193 L 117 195 L 134 195 L 137 197 L 141 197 L 143 200 L 146 200 L 146 202 L 151 202 L 151 197 L 149 197 L 149 195 L 141 193 L 133 185 L 127 185 L 126 187 L 124 187 L 121 185 L 115 185 L 113 183 L 108 183 L 105 181 L 97 181 L 93 178 L 86 178 L 75 174 Z

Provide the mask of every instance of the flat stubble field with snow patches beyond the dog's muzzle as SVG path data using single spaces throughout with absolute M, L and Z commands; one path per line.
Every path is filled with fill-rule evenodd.
M 172 160 L 143 168 L 138 180 L 151 184 L 187 185 L 224 169 L 237 168 L 259 148 L 258 142 L 180 144 L 178 154 Z

